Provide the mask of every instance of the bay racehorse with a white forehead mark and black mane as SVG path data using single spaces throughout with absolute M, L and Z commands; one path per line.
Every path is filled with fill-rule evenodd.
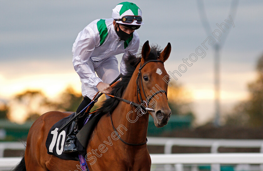
M 163 62 L 170 52 L 170 43 L 162 51 L 158 46 L 150 47 L 146 41 L 141 57 L 126 59 L 126 74 L 111 92 L 112 96 L 126 101 L 106 99 L 98 109 L 97 112 L 103 115 L 86 147 L 85 160 L 90 171 L 150 171 L 151 158 L 146 144 L 149 114 L 156 127 L 165 126 L 171 115 L 167 101 L 168 83 L 162 80 L 168 76 Z M 140 107 L 142 104 L 144 108 Z M 78 161 L 49 155 L 45 146 L 50 128 L 72 113 L 50 111 L 41 115 L 28 132 L 24 157 L 14 171 L 80 170 Z

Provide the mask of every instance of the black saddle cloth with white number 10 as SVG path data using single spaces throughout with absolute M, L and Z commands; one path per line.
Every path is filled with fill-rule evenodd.
M 68 120 L 75 116 L 75 113 L 59 120 L 55 123 L 49 130 L 49 134 L 46 140 L 46 148 L 48 154 L 54 155 L 61 159 L 66 160 L 75 160 L 79 161 L 78 154 L 83 156 L 86 155 L 86 147 L 90 138 L 90 135 L 97 125 L 99 119 L 101 118 L 100 114 L 92 114 L 88 122 L 81 128 L 77 134 L 76 145 L 78 147 L 78 153 L 63 153 L 64 144 L 66 142 L 66 137 L 69 134 L 70 126 L 67 126 L 63 131 L 58 133 L 58 129 L 63 126 Z

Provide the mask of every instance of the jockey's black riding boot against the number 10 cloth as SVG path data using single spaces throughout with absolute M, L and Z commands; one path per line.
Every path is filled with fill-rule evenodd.
M 83 110 L 88 104 L 90 104 L 90 102 L 91 102 L 91 99 L 88 98 L 87 96 L 85 96 L 83 98 L 82 102 L 80 103 L 80 106 L 78 107 L 78 109 L 76 111 L 76 114 L 79 113 L 81 110 Z M 91 105 L 91 108 L 93 107 L 93 105 Z M 72 124 L 70 126 L 69 134 L 67 135 L 67 140 L 65 142 L 64 151 L 63 151 L 64 153 L 70 153 L 70 152 L 77 152 L 78 151 L 77 145 L 76 145 L 76 139 L 77 139 L 76 135 L 83 126 L 83 122 L 85 120 L 85 117 L 81 117 L 81 116 L 84 113 L 85 113 L 85 111 L 83 111 L 80 114 L 80 117 L 78 117 L 75 121 L 72 122 Z

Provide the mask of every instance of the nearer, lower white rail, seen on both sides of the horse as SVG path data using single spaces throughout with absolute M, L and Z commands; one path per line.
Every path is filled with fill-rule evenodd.
M 262 153 L 150 154 L 152 165 L 172 164 L 177 171 L 183 164 L 262 164 Z M 0 170 L 15 167 L 21 158 L 0 158 Z M 214 170 L 219 171 L 219 170 Z

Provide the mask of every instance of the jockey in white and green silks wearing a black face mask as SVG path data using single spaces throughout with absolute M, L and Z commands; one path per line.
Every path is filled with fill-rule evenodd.
M 129 2 L 118 4 L 112 11 L 111 19 L 91 22 L 78 34 L 73 44 L 72 61 L 80 76 L 83 96 L 76 114 L 91 102 L 98 91 L 110 94 L 112 88 L 109 83 L 118 77 L 120 72 L 125 74 L 124 58 L 129 54 L 137 54 L 140 39 L 135 30 L 143 25 L 142 11 L 136 4 Z M 115 56 L 121 53 L 124 55 L 119 72 Z M 83 119 L 80 120 L 75 120 L 70 127 L 64 153 L 77 151 L 76 134 L 83 125 Z

